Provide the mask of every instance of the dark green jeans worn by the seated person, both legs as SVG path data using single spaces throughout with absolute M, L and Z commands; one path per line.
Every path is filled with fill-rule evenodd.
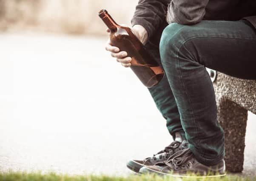
M 164 79 L 149 88 L 171 135 L 185 133 L 196 159 L 216 164 L 225 156 L 213 84 L 205 67 L 256 79 L 256 31 L 245 20 L 168 25 L 161 37 Z M 152 50 L 157 56 L 157 50 Z

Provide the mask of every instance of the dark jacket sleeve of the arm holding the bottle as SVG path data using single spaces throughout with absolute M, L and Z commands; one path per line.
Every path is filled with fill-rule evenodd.
M 131 25 L 142 25 L 148 32 L 148 37 L 154 35 L 167 14 L 170 0 L 139 0 Z

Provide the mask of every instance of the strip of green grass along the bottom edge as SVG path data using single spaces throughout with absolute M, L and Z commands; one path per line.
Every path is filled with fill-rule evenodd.
M 173 178 L 157 175 L 63 175 L 56 173 L 0 173 L 0 181 L 256 181 L 256 178 L 245 178 L 227 175 L 222 178 Z

